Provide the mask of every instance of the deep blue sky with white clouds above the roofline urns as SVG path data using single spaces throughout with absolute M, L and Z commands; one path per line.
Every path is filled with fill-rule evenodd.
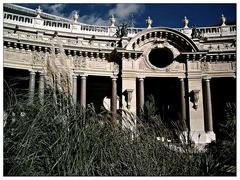
M 135 22 L 135 27 L 147 27 L 148 16 L 153 19 L 153 27 L 182 27 L 184 16 L 190 20 L 189 26 L 211 26 L 220 23 L 221 14 L 229 21 L 236 21 L 236 4 L 18 4 L 36 9 L 41 5 L 44 12 L 71 18 L 73 10 L 80 12 L 79 21 L 87 24 L 109 25 L 111 14 L 117 24 Z

